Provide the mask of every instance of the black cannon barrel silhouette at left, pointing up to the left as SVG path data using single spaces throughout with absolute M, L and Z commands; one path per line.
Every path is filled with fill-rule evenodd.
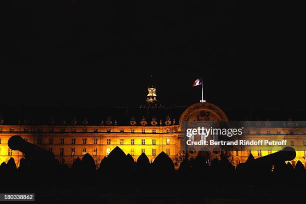
M 25 141 L 19 135 L 11 136 L 8 139 L 7 145 L 9 148 L 21 151 L 25 154 L 25 156 L 30 156 L 33 159 L 42 159 L 44 161 L 50 161 L 55 159 L 55 156 L 52 152 Z

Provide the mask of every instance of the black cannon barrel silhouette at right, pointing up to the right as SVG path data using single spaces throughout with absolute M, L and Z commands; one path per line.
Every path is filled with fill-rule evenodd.
M 273 165 L 275 163 L 292 160 L 295 158 L 295 156 L 296 156 L 295 149 L 287 146 L 275 153 L 271 153 L 269 155 L 256 158 L 254 161 L 257 163 L 265 163 L 268 165 Z

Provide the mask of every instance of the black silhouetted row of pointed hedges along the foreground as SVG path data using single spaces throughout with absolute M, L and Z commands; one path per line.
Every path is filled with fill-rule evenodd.
M 169 190 L 173 196 L 184 197 L 192 194 L 175 193 L 180 189 L 191 188 L 193 193 L 201 196 L 228 197 L 232 196 L 232 189 L 244 191 L 250 190 L 249 186 L 252 186 L 251 191 L 244 192 L 245 196 L 252 197 L 256 196 L 252 193 L 254 189 L 262 191 L 266 186 L 272 186 L 276 190 L 283 190 L 292 183 L 299 186 L 287 189 L 293 193 L 293 190 L 303 190 L 303 183 L 306 181 L 305 168 L 300 161 L 296 162 L 295 167 L 284 161 L 277 161 L 272 165 L 265 162 L 264 158 L 261 161 L 254 159 L 252 154 L 236 168 L 224 156 L 220 160 L 214 158 L 208 163 L 207 158 L 199 154 L 195 159 L 185 158 L 177 171 L 170 157 L 163 151 L 152 163 L 144 153 L 135 162 L 130 154 L 125 155 L 119 147 L 115 147 L 100 161 L 98 168 L 88 153 L 82 159 L 76 158 L 71 168 L 59 164 L 55 159 L 48 163 L 39 163 L 40 160 L 33 157 L 35 155 L 22 158 L 18 168 L 13 158 L 0 164 L 0 175 L 5 175 L 2 178 L 5 185 L 0 185 L 1 192 L 15 190 L 18 186 L 21 191 L 31 189 L 46 193 L 43 189 L 47 186 L 49 190 L 58 188 L 70 193 L 79 192 L 74 194 L 76 197 L 98 199 L 101 193 L 106 193 L 107 196 L 168 196 Z M 64 191 L 59 190 L 58 193 L 62 197 L 69 197 L 69 193 L 65 194 Z

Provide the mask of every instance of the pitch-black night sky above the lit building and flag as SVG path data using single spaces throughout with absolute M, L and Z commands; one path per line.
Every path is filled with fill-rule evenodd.
M 304 108 L 292 5 L 243 1 L 1 2 L 2 104 Z

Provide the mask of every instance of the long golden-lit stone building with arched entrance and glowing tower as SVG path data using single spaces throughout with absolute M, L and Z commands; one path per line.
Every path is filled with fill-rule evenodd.
M 208 102 L 195 103 L 188 107 L 164 108 L 157 102 L 156 89 L 153 86 L 148 88 L 145 104 L 139 108 L 83 108 L 65 111 L 48 108 L 48 112 L 45 108 L 28 108 L 15 113 L 8 108 L 2 112 L 0 162 L 6 162 L 13 157 L 17 165 L 23 157 L 22 153 L 7 146 L 7 140 L 15 134 L 52 151 L 60 163 L 69 166 L 85 153 L 92 155 L 98 165 L 115 146 L 119 146 L 135 160 L 144 152 L 151 162 L 164 151 L 177 167 L 182 158 L 181 139 L 185 138 L 185 132 L 180 129 L 182 121 L 228 121 L 219 107 Z M 305 164 L 306 128 L 301 128 L 290 120 L 283 123 L 281 128 L 261 124 L 260 131 L 258 125 L 245 128 L 243 138 L 275 140 L 285 135 L 288 141 L 285 146 L 292 146 L 297 150 L 296 158 L 290 162 L 294 165 L 300 160 Z M 228 159 L 236 165 L 244 162 L 250 153 L 256 158 L 278 150 L 263 145 L 262 148 L 257 148 L 254 150 L 245 146 L 229 151 Z M 194 158 L 199 152 L 184 153 L 187 153 L 189 158 Z M 220 158 L 225 152 L 216 149 L 206 153 L 211 160 Z

